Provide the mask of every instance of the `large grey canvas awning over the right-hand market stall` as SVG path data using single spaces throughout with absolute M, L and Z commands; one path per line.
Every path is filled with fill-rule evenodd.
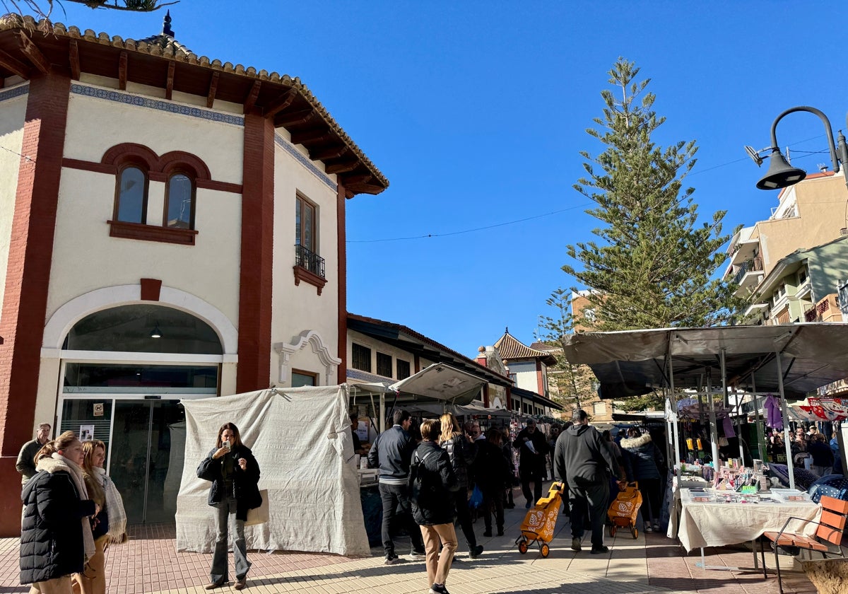
M 720 388 L 722 350 L 728 385 L 754 384 L 758 392 L 778 392 L 776 357 L 789 398 L 803 398 L 848 377 L 846 323 L 579 333 L 564 343 L 569 362 L 592 368 L 601 398 L 627 398 L 667 386 L 670 364 L 676 389 L 703 388 L 708 376 L 713 387 Z

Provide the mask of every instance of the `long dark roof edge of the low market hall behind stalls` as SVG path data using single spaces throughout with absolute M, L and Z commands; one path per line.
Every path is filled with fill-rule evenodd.
M 348 329 L 363 333 L 366 336 L 380 340 L 388 345 L 393 345 L 401 350 L 406 350 L 416 356 L 421 356 L 428 361 L 447 363 L 461 371 L 472 375 L 483 376 L 488 383 L 509 387 L 512 380 L 506 378 L 480 365 L 477 361 L 461 355 L 453 349 L 427 338 L 424 334 L 417 333 L 412 328 L 393 322 L 385 322 L 374 317 L 357 316 L 348 314 Z

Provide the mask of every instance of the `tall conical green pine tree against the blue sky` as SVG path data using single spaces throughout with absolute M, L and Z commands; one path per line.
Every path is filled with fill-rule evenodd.
M 586 131 L 606 148 L 594 158 L 580 153 L 587 177 L 574 186 L 597 205 L 586 212 L 603 223 L 593 231 L 601 241 L 569 245 L 583 266 L 562 266 L 590 289 L 594 319 L 578 322 L 604 331 L 728 322 L 738 306 L 734 287 L 711 278 L 727 257 L 718 251 L 728 240 L 726 211 L 699 224 L 695 189 L 683 189 L 695 141 L 652 142 L 665 118 L 645 91 L 650 79 L 637 82 L 639 68 L 622 58 L 609 75 L 615 92 L 601 92 L 604 117 Z

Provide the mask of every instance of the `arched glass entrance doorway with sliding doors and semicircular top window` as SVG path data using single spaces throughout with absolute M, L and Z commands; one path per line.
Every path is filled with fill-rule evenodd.
M 180 400 L 219 395 L 221 341 L 186 311 L 119 305 L 64 337 L 59 429 L 106 444 L 106 467 L 131 523 L 174 518 L 182 474 Z

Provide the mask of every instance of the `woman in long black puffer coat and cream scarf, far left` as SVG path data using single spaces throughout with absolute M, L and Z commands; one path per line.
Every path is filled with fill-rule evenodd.
M 35 457 L 36 475 L 21 500 L 20 583 L 30 594 L 70 594 L 95 552 L 90 518 L 100 511 L 82 477 L 84 452 L 73 431 L 47 442 Z

